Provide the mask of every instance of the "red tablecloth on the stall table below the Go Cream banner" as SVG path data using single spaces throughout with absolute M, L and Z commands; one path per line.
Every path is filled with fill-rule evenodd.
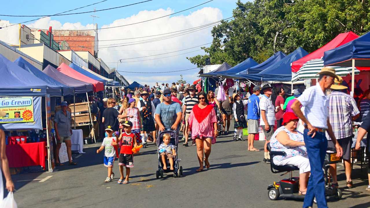
M 45 169 L 46 142 L 6 145 L 10 168 L 41 165 Z

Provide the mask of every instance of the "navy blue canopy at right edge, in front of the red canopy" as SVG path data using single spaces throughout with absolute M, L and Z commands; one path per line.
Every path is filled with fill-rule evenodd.
M 332 50 L 324 52 L 324 66 L 370 67 L 370 32 Z

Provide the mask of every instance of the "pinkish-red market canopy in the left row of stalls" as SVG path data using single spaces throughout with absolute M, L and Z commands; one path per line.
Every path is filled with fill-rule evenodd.
M 93 87 L 94 87 L 94 92 L 95 93 L 104 90 L 104 84 L 103 83 L 101 83 L 99 81 L 96 81 L 96 80 L 94 80 L 90 77 L 87 77 L 87 76 L 79 73 L 78 71 L 69 67 L 65 63 L 61 63 L 60 66 L 57 68 L 57 70 L 60 71 L 61 73 L 65 74 L 65 75 L 67 75 L 68 77 L 72 77 L 72 78 L 75 78 L 76 80 L 80 80 L 80 81 L 84 81 L 86 83 L 92 84 Z

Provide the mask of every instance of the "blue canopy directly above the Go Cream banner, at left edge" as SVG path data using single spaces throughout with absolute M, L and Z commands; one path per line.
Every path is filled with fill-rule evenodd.
M 61 96 L 62 88 L 44 82 L 0 54 L 2 96 Z

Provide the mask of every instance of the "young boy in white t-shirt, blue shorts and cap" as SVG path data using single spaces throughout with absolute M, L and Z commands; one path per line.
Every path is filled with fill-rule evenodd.
M 112 170 L 116 157 L 117 137 L 113 136 L 113 130 L 109 128 L 109 126 L 105 129 L 105 132 L 108 136 L 104 138 L 100 148 L 96 151 L 96 153 L 101 152 L 105 148 L 104 166 L 108 168 L 108 177 L 105 179 L 105 182 L 111 182 L 114 178 L 114 172 Z

